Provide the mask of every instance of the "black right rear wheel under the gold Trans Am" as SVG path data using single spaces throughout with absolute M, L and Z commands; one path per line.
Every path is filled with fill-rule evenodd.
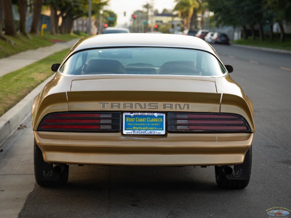
M 244 175 L 245 179 L 227 179 L 226 173 L 223 171 L 223 167 L 215 166 L 215 179 L 219 187 L 222 188 L 232 188 L 240 189 L 245 188 L 249 184 L 251 177 L 251 168 L 252 168 L 252 147 L 246 152 L 244 157 L 244 162 L 241 165 L 237 165 L 246 168 L 247 175 Z M 237 167 L 235 166 L 235 168 Z M 248 168 L 248 169 L 247 169 Z

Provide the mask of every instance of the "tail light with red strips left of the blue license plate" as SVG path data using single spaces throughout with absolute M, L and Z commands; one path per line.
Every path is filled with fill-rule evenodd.
M 37 131 L 114 132 L 120 131 L 120 112 L 57 112 L 46 115 Z

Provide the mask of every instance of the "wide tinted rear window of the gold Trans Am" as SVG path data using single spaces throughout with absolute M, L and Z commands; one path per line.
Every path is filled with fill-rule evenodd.
M 119 47 L 73 54 L 60 72 L 69 75 L 149 74 L 222 76 L 224 67 L 212 54 L 195 49 Z

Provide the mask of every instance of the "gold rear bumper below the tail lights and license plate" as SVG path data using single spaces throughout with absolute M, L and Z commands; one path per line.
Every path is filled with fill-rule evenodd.
M 48 163 L 136 166 L 237 165 L 253 133 L 125 136 L 34 131 Z

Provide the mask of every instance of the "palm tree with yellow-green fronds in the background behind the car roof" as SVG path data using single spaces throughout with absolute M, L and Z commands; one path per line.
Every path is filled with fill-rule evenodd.
M 174 11 L 178 11 L 179 16 L 183 18 L 184 27 L 190 29 L 191 17 L 194 9 L 199 8 L 197 0 L 176 0 Z

